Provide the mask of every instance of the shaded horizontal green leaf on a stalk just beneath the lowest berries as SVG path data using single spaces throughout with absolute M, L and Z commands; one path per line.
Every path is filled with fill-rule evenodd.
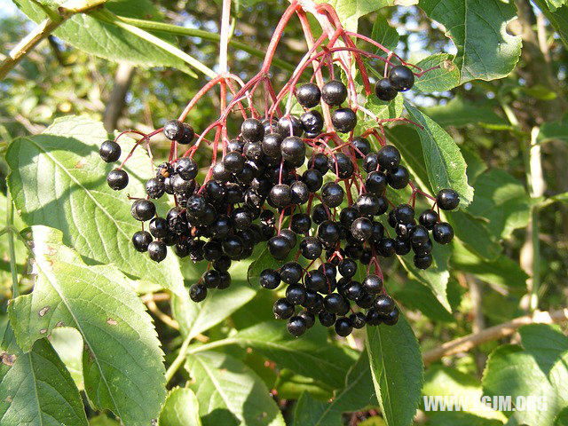
M 281 321 L 263 322 L 222 341 L 210 343 L 210 346 L 224 344 L 239 344 L 260 351 L 278 367 L 312 377 L 333 388 L 343 385 L 353 363 L 347 352 L 327 343 L 327 332 L 323 327 L 314 327 L 306 333 L 306 338 L 296 339 L 289 335 Z M 196 351 L 204 351 L 208 346 L 197 346 Z

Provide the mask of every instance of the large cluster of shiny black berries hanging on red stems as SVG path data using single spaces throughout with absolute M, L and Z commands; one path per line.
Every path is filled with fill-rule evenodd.
M 407 67 L 392 67 L 375 92 L 390 100 L 413 83 Z M 242 122 L 241 134 L 226 144 L 223 158 L 211 165 L 203 185 L 195 180 L 198 167 L 190 156 L 158 166 L 155 177 L 146 182 L 146 198 L 132 203 L 132 216 L 149 222 L 147 231 L 143 227 L 134 233 L 132 243 L 156 262 L 167 256 L 167 246 L 179 257 L 208 261 L 208 271 L 189 290 L 194 302 L 201 302 L 211 288 L 229 287 L 232 261 L 251 256 L 258 243 L 265 242 L 275 259 L 294 258 L 260 274 L 264 288 L 279 288 L 281 282 L 288 286 L 273 312 L 288 320 L 292 335 L 302 335 L 316 317 L 342 336 L 366 324 L 395 324 L 398 309 L 383 288 L 378 256 L 413 251 L 414 265 L 426 269 L 432 264 L 430 233 L 434 241 L 447 244 L 454 231 L 434 209 L 424 210 L 416 220 L 411 205 L 390 204 L 387 187 L 400 190 L 409 183 L 396 147 L 385 145 L 374 152 L 367 138 L 352 135 L 343 149 L 331 150 L 322 143 L 324 119 L 312 109 L 321 101 L 335 108 L 330 114 L 335 132 L 349 133 L 357 124 L 355 112 L 341 107 L 348 95 L 342 82 L 333 80 L 321 89 L 305 83 L 295 94 L 304 114 Z M 163 134 L 182 145 L 194 138 L 191 126 L 177 120 L 167 122 Z M 116 162 L 121 148 L 107 140 L 99 154 L 106 162 Z M 359 170 L 367 173 L 364 179 Z M 351 199 L 347 181 L 354 174 L 361 187 Z M 121 190 L 128 185 L 128 175 L 119 167 L 108 174 L 107 182 Z M 174 195 L 176 207 L 160 217 L 153 200 L 165 193 Z M 436 203 L 450 210 L 459 201 L 454 190 L 444 189 Z M 379 221 L 383 215 L 390 233 Z M 318 259 L 318 267 L 312 267 Z M 368 272 L 372 264 L 378 272 Z M 358 269 L 365 271 L 359 273 L 360 281 L 355 279 Z

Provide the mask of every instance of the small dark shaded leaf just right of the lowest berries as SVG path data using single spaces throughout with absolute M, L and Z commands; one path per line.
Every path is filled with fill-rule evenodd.
M 422 312 L 430 319 L 454 322 L 454 317 L 432 295 L 430 288 L 416 280 L 406 280 L 404 286 L 394 291 L 392 295 L 399 303 L 407 308 Z

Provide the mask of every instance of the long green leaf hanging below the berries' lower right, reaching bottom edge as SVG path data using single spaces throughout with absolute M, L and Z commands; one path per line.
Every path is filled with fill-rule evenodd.
M 420 347 L 404 315 L 394 326 L 367 328 L 367 351 L 375 391 L 388 426 L 412 423 L 421 396 Z

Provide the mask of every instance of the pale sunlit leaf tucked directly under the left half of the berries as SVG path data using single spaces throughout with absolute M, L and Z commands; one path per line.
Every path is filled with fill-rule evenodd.
M 172 297 L 172 311 L 179 323 L 182 335 L 191 335 L 193 338 L 209 330 L 256 296 L 259 286 L 249 285 L 246 278 L 249 265 L 251 265 L 249 259 L 233 263 L 229 270 L 232 278 L 231 287 L 222 291 L 209 290 L 207 298 L 199 304 L 194 303 L 188 297 Z M 202 264 L 201 268 L 204 267 L 205 265 Z M 195 272 L 199 271 L 198 268 L 199 266 L 194 266 L 192 269 Z M 201 276 L 201 272 L 196 275 Z M 199 278 L 196 276 L 188 282 L 188 285 L 197 280 Z M 223 306 L 223 309 L 219 309 L 219 306 Z

